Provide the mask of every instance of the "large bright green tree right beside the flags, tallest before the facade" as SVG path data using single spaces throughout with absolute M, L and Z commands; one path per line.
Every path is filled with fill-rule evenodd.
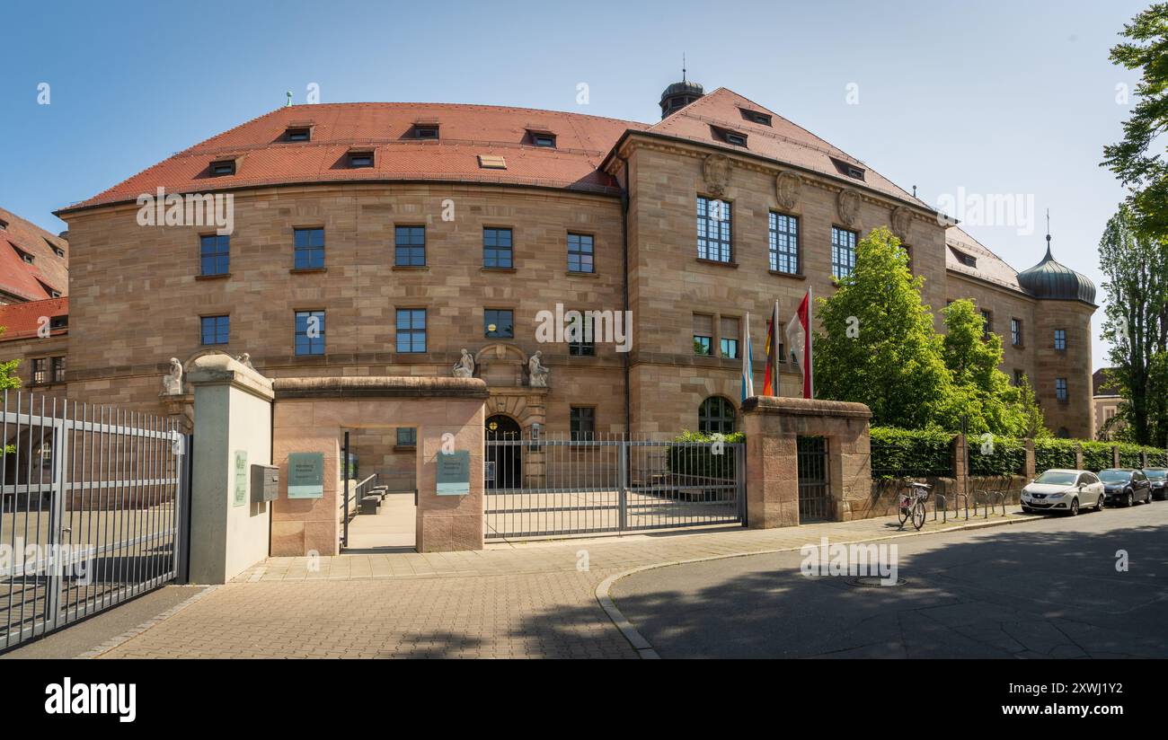
M 923 285 L 887 228 L 860 240 L 853 273 L 818 301 L 819 397 L 867 404 L 872 424 L 924 428 L 936 421 L 950 382 Z

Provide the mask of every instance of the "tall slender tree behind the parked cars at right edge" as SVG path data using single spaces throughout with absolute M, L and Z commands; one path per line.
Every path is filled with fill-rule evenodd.
M 1119 435 L 1141 445 L 1168 442 L 1168 242 L 1142 235 L 1121 205 L 1099 240 L 1107 292 L 1103 336 L 1111 343 L 1111 379 L 1122 397 Z

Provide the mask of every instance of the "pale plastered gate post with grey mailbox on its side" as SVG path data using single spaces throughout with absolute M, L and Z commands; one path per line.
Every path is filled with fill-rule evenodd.
M 216 354 L 195 358 L 187 383 L 195 389 L 190 582 L 224 584 L 267 557 L 269 504 L 252 503 L 250 468 L 272 462 L 272 382 Z

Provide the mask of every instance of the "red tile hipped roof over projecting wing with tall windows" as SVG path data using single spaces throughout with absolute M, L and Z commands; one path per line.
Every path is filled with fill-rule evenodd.
M 743 118 L 742 110 L 765 113 L 771 125 L 756 124 Z M 746 134 L 746 146 L 734 146 L 718 139 L 712 127 Z M 931 205 L 912 197 L 876 170 L 850 154 L 820 139 L 806 128 L 797 126 L 773 111 L 742 97 L 732 90 L 718 88 L 714 92 L 694 100 L 680 111 L 656 123 L 652 133 L 667 134 L 679 139 L 700 141 L 729 152 L 749 152 L 756 156 L 802 167 L 853 187 L 870 188 L 899 201 L 905 201 L 930 211 Z M 864 170 L 864 179 L 856 180 L 841 175 L 832 159 L 854 165 Z

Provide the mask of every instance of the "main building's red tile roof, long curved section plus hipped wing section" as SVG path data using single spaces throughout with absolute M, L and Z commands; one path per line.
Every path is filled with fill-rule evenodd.
M 739 109 L 767 113 L 773 125 L 750 123 Z M 418 124 L 437 124 L 440 138 L 415 138 Z M 717 139 L 711 124 L 748 133 L 745 149 Z M 285 132 L 297 127 L 311 127 L 312 140 L 285 141 Z M 555 134 L 556 147 L 533 146 L 529 132 Z M 618 183 L 602 166 L 626 132 L 649 132 L 750 153 L 929 208 L 860 160 L 781 116 L 719 88 L 653 126 L 580 113 L 489 105 L 335 103 L 281 107 L 180 152 L 58 214 L 133 201 L 141 194 L 154 194 L 160 187 L 168 193 L 194 193 L 328 181 L 431 180 L 617 193 Z M 374 167 L 348 167 L 348 152 L 370 148 L 375 151 Z M 502 156 L 507 168 L 484 169 L 480 155 Z M 864 181 L 841 175 L 832 158 L 864 168 Z M 210 163 L 223 159 L 236 160 L 236 174 L 213 177 Z

